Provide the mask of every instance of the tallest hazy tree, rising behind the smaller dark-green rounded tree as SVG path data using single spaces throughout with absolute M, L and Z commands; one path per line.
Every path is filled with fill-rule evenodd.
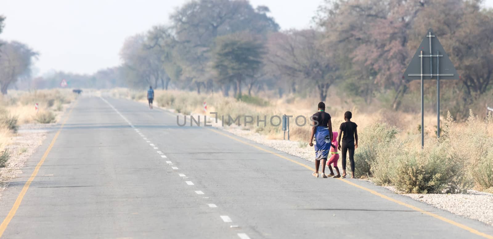
M 265 36 L 279 30 L 268 12 L 265 6 L 254 9 L 246 0 L 193 0 L 177 9 L 170 18 L 184 78 L 195 83 L 198 92 L 211 82 L 208 71 L 216 37 L 242 31 Z

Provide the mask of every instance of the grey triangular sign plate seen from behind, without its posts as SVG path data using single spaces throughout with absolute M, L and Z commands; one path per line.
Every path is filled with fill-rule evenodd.
M 431 43 L 431 54 L 430 54 L 430 43 Z M 423 51 L 423 55 L 421 55 Z M 431 55 L 431 56 L 430 56 Z M 421 80 L 421 64 L 423 58 L 423 80 L 436 80 L 437 71 L 439 70 L 440 80 L 458 80 L 459 75 L 452 61 L 450 61 L 449 56 L 443 50 L 442 44 L 438 41 L 437 36 L 433 33 L 430 28 L 426 32 L 426 36 L 421 42 L 420 47 L 414 54 L 413 59 L 409 63 L 403 79 L 406 80 Z M 430 63 L 431 58 L 431 63 Z M 439 68 L 437 69 L 437 65 Z

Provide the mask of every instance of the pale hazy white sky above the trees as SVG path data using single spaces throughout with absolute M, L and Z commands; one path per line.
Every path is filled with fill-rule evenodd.
M 6 17 L 1 39 L 27 43 L 39 52 L 35 66 L 93 73 L 120 64 L 126 37 L 166 24 L 189 0 L 0 0 Z M 310 25 L 323 0 L 250 0 L 266 5 L 282 29 Z M 486 0 L 493 7 L 493 0 Z

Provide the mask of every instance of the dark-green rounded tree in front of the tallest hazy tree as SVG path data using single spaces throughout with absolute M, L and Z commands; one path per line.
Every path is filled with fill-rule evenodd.
M 253 78 L 262 65 L 264 46 L 261 42 L 248 39 L 245 34 L 226 35 L 217 38 L 212 68 L 219 80 L 236 82 L 235 96 L 242 95 L 242 83 Z M 250 94 L 251 87 L 248 90 Z

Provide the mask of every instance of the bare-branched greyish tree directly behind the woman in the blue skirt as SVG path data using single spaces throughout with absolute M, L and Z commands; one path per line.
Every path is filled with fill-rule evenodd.
M 290 30 L 274 33 L 269 41 L 269 61 L 286 78 L 299 78 L 318 90 L 321 101 L 327 90 L 340 79 L 338 65 L 322 44 L 317 30 Z

